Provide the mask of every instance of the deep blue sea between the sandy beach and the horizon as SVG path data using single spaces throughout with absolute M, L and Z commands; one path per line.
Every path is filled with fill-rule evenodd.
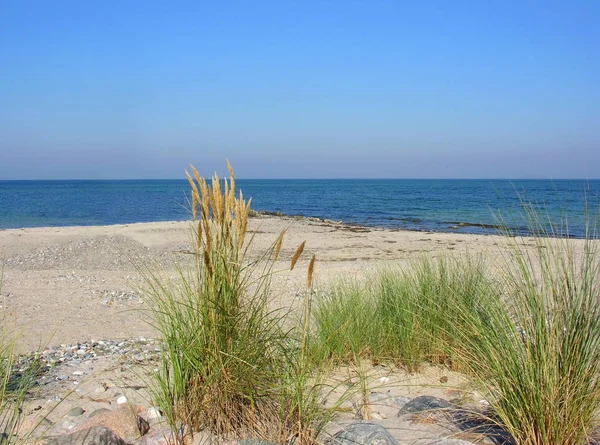
M 439 232 L 496 233 L 502 215 L 510 227 L 527 233 L 525 200 L 544 221 L 573 237 L 584 236 L 584 203 L 594 213 L 600 194 L 600 180 L 238 180 L 237 185 L 259 211 Z M 0 181 L 0 228 L 185 220 L 188 208 L 186 180 Z M 597 214 L 593 217 L 597 222 Z

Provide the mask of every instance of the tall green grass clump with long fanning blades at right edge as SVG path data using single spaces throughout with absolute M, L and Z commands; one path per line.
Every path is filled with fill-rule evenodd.
M 460 314 L 461 363 L 515 443 L 585 444 L 600 408 L 597 219 L 572 240 L 566 224 L 555 229 L 532 206 L 525 211 L 540 236 L 530 248 L 507 238 L 505 297 L 488 298 L 485 314 Z

